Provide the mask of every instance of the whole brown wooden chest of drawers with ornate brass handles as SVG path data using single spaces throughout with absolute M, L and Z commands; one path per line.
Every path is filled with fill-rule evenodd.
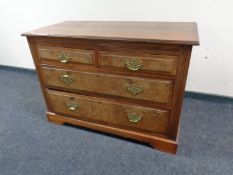
M 176 153 L 195 23 L 66 21 L 23 36 L 50 122 Z

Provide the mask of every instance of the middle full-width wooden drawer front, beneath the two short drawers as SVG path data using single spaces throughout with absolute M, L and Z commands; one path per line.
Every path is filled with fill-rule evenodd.
M 169 80 L 142 79 L 51 68 L 42 68 L 41 72 L 43 81 L 47 86 L 159 103 L 169 103 L 172 93 L 172 82 Z

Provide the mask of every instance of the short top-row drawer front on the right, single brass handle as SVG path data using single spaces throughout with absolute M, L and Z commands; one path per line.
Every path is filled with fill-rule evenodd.
M 177 56 L 100 52 L 100 65 L 131 72 L 162 72 L 175 75 L 176 58 Z

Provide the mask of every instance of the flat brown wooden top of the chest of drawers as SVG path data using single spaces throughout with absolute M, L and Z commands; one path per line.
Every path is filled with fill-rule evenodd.
M 23 36 L 199 44 L 194 22 L 65 21 L 23 33 Z

